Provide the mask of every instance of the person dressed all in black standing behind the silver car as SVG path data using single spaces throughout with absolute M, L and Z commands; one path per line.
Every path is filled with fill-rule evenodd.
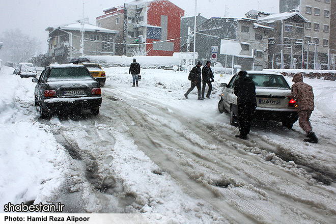
M 246 71 L 239 71 L 235 81 L 235 95 L 237 96 L 239 135 L 236 137 L 247 139 L 252 116 L 257 108 L 256 85 Z

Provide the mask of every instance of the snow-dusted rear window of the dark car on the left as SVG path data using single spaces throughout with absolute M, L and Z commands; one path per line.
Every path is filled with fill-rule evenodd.
M 48 81 L 78 79 L 92 79 L 92 76 L 84 67 L 64 67 L 52 68 L 48 77 Z

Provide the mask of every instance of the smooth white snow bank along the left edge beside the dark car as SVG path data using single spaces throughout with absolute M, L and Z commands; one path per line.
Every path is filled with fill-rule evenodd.
M 0 78 L 0 207 L 4 208 L 9 202 L 38 202 L 57 188 L 62 183 L 58 164 L 65 153 L 37 122 L 32 79 L 13 75 L 7 66 Z

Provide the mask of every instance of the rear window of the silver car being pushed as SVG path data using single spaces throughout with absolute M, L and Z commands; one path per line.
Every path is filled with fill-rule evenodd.
M 248 74 L 256 83 L 256 87 L 291 89 L 282 75 Z

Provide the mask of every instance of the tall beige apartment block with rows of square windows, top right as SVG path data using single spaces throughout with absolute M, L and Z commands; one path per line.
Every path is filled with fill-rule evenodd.
M 306 18 L 304 44 L 309 51 L 315 51 L 316 47 L 316 60 L 322 68 L 327 67 L 331 31 L 335 29 L 335 23 L 330 22 L 331 2 L 334 0 L 279 0 L 281 13 L 295 9 Z

